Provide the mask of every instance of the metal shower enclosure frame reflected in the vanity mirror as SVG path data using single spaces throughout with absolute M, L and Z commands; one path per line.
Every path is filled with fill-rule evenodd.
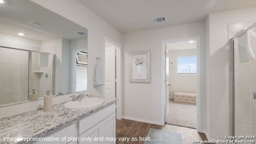
M 15 50 L 20 50 L 20 51 L 28 51 L 28 100 L 29 101 L 29 93 L 31 93 L 31 85 L 32 85 L 32 52 L 34 53 L 39 53 L 39 51 L 33 51 L 33 50 L 27 50 L 27 49 L 18 49 L 18 48 L 14 48 L 14 47 L 6 47 L 6 46 L 2 46 L 0 45 L 0 47 L 2 48 L 6 48 L 6 49 L 15 49 Z M 56 54 L 51 54 L 52 55 L 52 95 L 55 94 L 55 55 Z M 39 98 L 41 99 L 41 98 Z

